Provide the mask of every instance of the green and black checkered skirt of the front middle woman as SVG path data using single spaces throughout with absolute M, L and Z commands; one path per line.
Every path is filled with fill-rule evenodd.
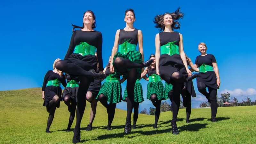
M 142 63 L 142 56 L 141 53 L 139 51 L 129 51 L 127 54 L 121 53 L 121 52 L 117 52 L 114 56 L 113 61 L 117 58 L 117 57 L 122 57 L 124 59 L 129 59 L 132 62 L 136 62 L 136 63 Z M 114 62 L 113 62 L 114 63 Z M 114 66 L 114 64 L 113 64 Z M 115 66 L 114 66 L 115 68 Z M 130 71 L 131 68 L 127 68 L 127 71 Z M 141 68 L 136 68 L 137 72 L 138 72 L 138 76 L 137 78 L 140 78 L 141 76 Z M 127 78 L 127 74 L 125 73 L 120 73 L 118 72 L 118 70 L 115 68 L 115 73 L 113 76 L 123 76 L 124 78 Z

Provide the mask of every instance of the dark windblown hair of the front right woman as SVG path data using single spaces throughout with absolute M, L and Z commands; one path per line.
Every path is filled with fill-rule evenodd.
M 164 14 L 161 15 L 157 15 L 155 16 L 153 22 L 156 24 L 156 28 L 160 28 L 159 31 L 164 30 L 164 16 L 166 14 L 170 14 L 172 16 L 172 30 L 173 29 L 180 29 L 180 22 L 178 21 L 179 19 L 183 19 L 184 17 L 184 13 L 180 12 L 180 7 L 178 7 L 178 9 L 175 12 L 169 13 L 166 12 Z

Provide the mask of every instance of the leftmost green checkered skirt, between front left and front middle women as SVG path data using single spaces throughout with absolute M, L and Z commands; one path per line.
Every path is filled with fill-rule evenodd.
M 104 82 L 100 88 L 100 92 L 97 95 L 96 100 L 98 100 L 100 94 L 104 94 L 109 103 L 118 103 L 123 100 L 120 82 Z

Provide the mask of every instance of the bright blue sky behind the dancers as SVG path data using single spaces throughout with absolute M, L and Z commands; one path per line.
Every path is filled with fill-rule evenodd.
M 184 50 L 194 62 L 205 42 L 214 54 L 220 70 L 220 92 L 231 92 L 255 99 L 255 2 L 252 1 L 5 1 L 0 4 L 1 71 L 0 90 L 41 87 L 47 70 L 56 58 L 63 59 L 72 35 L 71 23 L 82 26 L 83 13 L 92 10 L 103 35 L 103 63 L 114 44 L 117 29 L 124 28 L 124 11 L 136 14 L 134 27 L 143 33 L 145 59 L 155 53 L 158 29 L 155 15 L 173 12 L 178 6 L 185 13 L 178 32 L 183 35 Z M 146 99 L 147 84 L 141 80 L 145 101 L 140 110 L 153 105 Z M 196 81 L 194 81 L 196 88 Z M 125 84 L 123 84 L 123 88 Z M 123 89 L 124 90 L 124 89 Z M 197 89 L 192 107 L 206 99 Z M 169 101 L 169 100 L 168 100 Z M 100 104 L 100 103 L 99 103 Z M 64 104 L 63 104 L 64 105 Z M 126 103 L 117 105 L 126 109 Z

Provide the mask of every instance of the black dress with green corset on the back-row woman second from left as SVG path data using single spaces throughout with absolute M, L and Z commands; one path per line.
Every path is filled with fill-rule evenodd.
M 63 100 L 64 96 L 68 95 L 72 100 L 77 102 L 77 92 L 78 92 L 78 87 L 79 87 L 79 84 L 78 84 L 79 83 L 79 76 L 68 75 L 67 73 L 65 75 L 66 75 L 68 85 L 63 90 L 60 100 L 64 101 Z M 69 83 L 71 83 L 71 84 L 69 84 Z

